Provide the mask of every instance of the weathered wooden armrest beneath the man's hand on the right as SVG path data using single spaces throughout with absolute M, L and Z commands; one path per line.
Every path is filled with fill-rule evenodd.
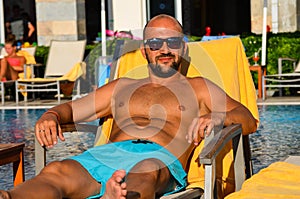
M 241 135 L 242 127 L 240 124 L 232 124 L 217 132 L 209 144 L 201 151 L 199 158 L 201 164 L 212 164 L 222 148 L 234 137 Z

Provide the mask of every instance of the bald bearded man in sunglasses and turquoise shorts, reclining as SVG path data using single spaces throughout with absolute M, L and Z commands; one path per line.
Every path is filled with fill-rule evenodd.
M 178 72 L 186 49 L 178 21 L 168 15 L 151 19 L 141 46 L 148 78 L 115 80 L 50 109 L 35 126 L 40 144 L 53 147 L 57 137 L 64 140 L 59 124 L 112 116 L 110 143 L 50 163 L 10 196 L 155 198 L 185 187 L 188 158 L 214 126 L 241 123 L 244 134 L 256 131 L 243 105 L 212 82 Z

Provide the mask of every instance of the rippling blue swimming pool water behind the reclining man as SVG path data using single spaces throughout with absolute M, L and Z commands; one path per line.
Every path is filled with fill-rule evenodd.
M 25 142 L 25 179 L 35 175 L 34 124 L 46 109 L 0 110 L 0 142 Z M 300 106 L 259 106 L 260 126 L 250 135 L 253 170 L 257 173 L 288 155 L 300 155 Z M 73 135 L 76 134 L 76 135 Z M 92 147 L 90 133 L 65 134 L 66 141 L 47 153 L 47 161 L 63 159 Z M 12 167 L 0 167 L 0 189 L 13 187 Z

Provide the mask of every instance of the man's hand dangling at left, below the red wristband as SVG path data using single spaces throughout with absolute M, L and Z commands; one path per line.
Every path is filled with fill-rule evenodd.
M 35 136 L 41 146 L 53 147 L 57 137 L 65 141 L 59 125 L 58 117 L 53 112 L 46 112 L 35 124 Z

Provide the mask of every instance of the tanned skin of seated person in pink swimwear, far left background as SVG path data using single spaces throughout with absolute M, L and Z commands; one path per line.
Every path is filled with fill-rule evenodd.
M 17 80 L 19 73 L 23 72 L 24 64 L 26 59 L 24 56 L 18 56 L 16 53 L 16 46 L 12 42 L 5 43 L 5 50 L 7 56 L 1 59 L 1 68 L 0 68 L 0 80 L 5 77 L 7 80 Z M 19 65 L 11 66 L 8 62 L 8 58 L 18 59 L 20 61 Z

